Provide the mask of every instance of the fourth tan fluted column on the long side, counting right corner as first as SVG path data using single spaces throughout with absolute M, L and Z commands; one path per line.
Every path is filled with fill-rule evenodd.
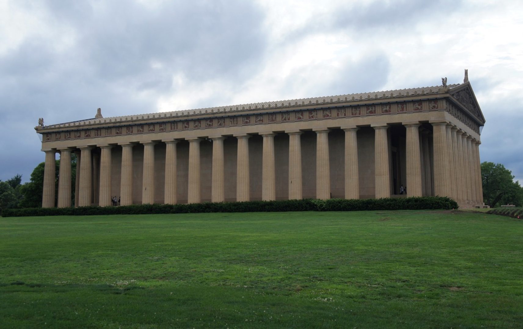
M 344 128 L 343 131 L 345 132 L 345 198 L 359 199 L 358 128 Z

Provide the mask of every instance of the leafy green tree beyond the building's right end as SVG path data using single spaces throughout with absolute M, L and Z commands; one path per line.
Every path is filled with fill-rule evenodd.
M 501 204 L 523 205 L 523 187 L 514 182 L 512 172 L 501 163 L 481 163 L 483 200 L 494 208 Z

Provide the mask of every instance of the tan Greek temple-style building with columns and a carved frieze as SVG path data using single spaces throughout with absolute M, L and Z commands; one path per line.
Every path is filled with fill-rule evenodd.
M 463 84 L 44 125 L 42 207 L 439 195 L 483 204 L 480 128 Z M 60 153 L 58 204 L 55 156 Z M 73 187 L 74 188 L 74 187 Z

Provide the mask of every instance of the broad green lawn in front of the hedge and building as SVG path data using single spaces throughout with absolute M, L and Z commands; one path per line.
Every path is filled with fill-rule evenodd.
M 0 327 L 521 328 L 523 221 L 466 211 L 0 218 Z

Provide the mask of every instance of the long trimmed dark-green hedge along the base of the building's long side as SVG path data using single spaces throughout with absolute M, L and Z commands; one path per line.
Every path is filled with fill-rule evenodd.
M 381 199 L 302 199 L 281 201 L 247 201 L 194 204 L 145 204 L 118 207 L 24 208 L 4 209 L 2 217 L 75 216 L 75 215 L 138 215 L 187 213 L 249 213 L 254 211 L 350 211 L 457 209 L 451 198 L 439 196 Z

